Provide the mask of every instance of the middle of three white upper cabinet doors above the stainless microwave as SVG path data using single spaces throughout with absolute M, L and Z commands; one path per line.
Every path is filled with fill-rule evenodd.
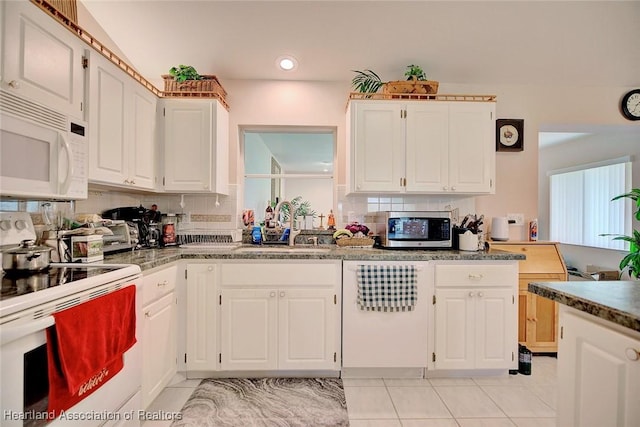
M 417 102 L 407 111 L 406 191 L 449 190 L 449 110 L 440 103 Z

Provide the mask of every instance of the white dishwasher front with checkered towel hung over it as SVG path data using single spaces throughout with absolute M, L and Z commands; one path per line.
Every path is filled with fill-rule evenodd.
M 366 311 L 357 302 L 360 265 L 413 265 L 417 301 L 411 311 Z M 426 261 L 345 261 L 342 275 L 342 367 L 424 368 L 430 331 L 433 275 Z

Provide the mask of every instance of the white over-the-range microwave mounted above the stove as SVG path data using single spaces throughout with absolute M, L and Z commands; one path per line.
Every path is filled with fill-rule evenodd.
M 87 126 L 0 90 L 0 195 L 86 199 Z

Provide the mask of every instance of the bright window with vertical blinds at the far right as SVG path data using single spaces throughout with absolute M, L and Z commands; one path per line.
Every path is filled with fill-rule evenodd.
M 631 233 L 631 205 L 611 199 L 631 190 L 630 159 L 550 173 L 551 240 L 572 245 L 627 249 L 627 243 L 602 234 Z

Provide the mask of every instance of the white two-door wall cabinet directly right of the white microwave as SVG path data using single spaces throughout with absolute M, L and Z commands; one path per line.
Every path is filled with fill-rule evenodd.
M 153 190 L 155 95 L 97 53 L 90 57 L 89 70 L 89 179 Z

